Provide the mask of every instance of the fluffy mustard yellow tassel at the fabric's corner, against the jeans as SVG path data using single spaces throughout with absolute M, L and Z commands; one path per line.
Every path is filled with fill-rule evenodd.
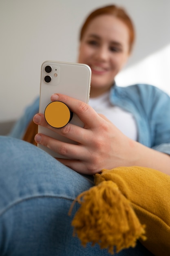
M 144 225 L 114 182 L 103 181 L 80 194 L 75 201 L 81 206 L 72 225 L 82 245 L 98 243 L 114 254 L 114 250 L 135 247 L 138 238 L 146 239 Z

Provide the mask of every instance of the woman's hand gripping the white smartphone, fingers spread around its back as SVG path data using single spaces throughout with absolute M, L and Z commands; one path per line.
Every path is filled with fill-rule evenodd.
M 84 128 L 68 123 L 63 128 L 52 128 L 44 115 L 34 117 L 35 124 L 49 128 L 76 141 L 68 144 L 46 135 L 36 135 L 35 141 L 70 159 L 58 159 L 66 166 L 84 174 L 95 174 L 103 168 L 132 165 L 131 150 L 135 141 L 122 134 L 106 117 L 99 115 L 82 101 L 62 94 L 53 94 L 51 101 L 62 101 L 77 114 Z

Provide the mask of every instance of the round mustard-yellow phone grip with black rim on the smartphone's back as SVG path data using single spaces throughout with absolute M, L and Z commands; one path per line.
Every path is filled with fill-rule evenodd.
M 46 106 L 44 116 L 47 123 L 54 128 L 62 128 L 71 121 L 73 112 L 61 101 L 53 101 Z

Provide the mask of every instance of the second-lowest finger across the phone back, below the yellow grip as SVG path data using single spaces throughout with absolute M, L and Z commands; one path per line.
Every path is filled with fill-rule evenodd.
M 66 158 L 75 159 L 76 157 L 76 159 L 81 160 L 86 160 L 88 158 L 88 151 L 81 145 L 59 141 L 41 133 L 35 135 L 35 141 Z

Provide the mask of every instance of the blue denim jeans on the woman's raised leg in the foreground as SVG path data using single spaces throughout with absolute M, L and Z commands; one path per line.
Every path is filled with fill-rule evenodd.
M 74 237 L 68 211 L 93 177 L 80 175 L 43 150 L 19 139 L 0 136 L 0 255 L 108 256 Z M 140 243 L 119 256 L 152 255 Z

